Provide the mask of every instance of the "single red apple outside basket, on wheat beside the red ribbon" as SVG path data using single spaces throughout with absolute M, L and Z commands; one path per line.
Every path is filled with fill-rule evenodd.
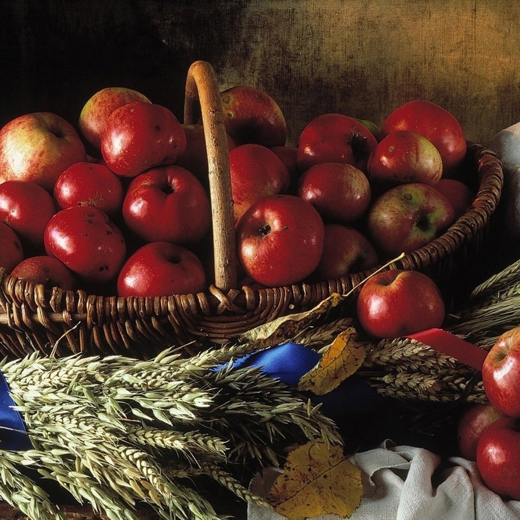
M 403 269 L 381 271 L 369 278 L 356 302 L 361 328 L 378 338 L 440 327 L 445 312 L 437 284 L 420 271 Z

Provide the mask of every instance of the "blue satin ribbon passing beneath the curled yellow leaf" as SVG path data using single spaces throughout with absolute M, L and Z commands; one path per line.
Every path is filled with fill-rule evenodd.
M 321 354 L 314 350 L 289 342 L 243 356 L 234 361 L 231 368 L 258 367 L 271 378 L 297 386 L 300 378 L 320 359 Z M 337 422 L 359 417 L 384 405 L 384 399 L 356 374 L 328 394 L 312 394 L 310 397 L 316 404 L 321 403 L 321 411 Z

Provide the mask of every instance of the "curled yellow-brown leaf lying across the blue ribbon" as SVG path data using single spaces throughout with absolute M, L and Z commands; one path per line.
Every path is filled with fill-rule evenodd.
M 365 361 L 365 346 L 358 343 L 352 327 L 340 332 L 322 355 L 318 364 L 302 375 L 298 389 L 324 395 L 354 374 Z

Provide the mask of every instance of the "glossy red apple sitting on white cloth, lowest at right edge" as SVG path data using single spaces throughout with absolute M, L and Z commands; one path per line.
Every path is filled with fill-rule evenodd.
M 520 419 L 504 417 L 490 424 L 478 441 L 476 459 L 489 489 L 520 500 Z

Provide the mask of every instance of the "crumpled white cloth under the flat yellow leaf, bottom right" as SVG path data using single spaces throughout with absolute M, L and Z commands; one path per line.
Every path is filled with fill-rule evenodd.
M 461 457 L 442 461 L 423 448 L 380 447 L 350 457 L 362 472 L 363 498 L 350 520 L 518 520 L 520 501 L 502 500 L 480 479 L 476 464 Z M 448 462 L 448 464 L 441 464 Z M 255 477 L 251 490 L 265 496 L 276 471 Z M 433 477 L 433 480 L 432 480 Z M 338 520 L 336 515 L 313 520 Z M 284 520 L 250 505 L 248 520 Z

